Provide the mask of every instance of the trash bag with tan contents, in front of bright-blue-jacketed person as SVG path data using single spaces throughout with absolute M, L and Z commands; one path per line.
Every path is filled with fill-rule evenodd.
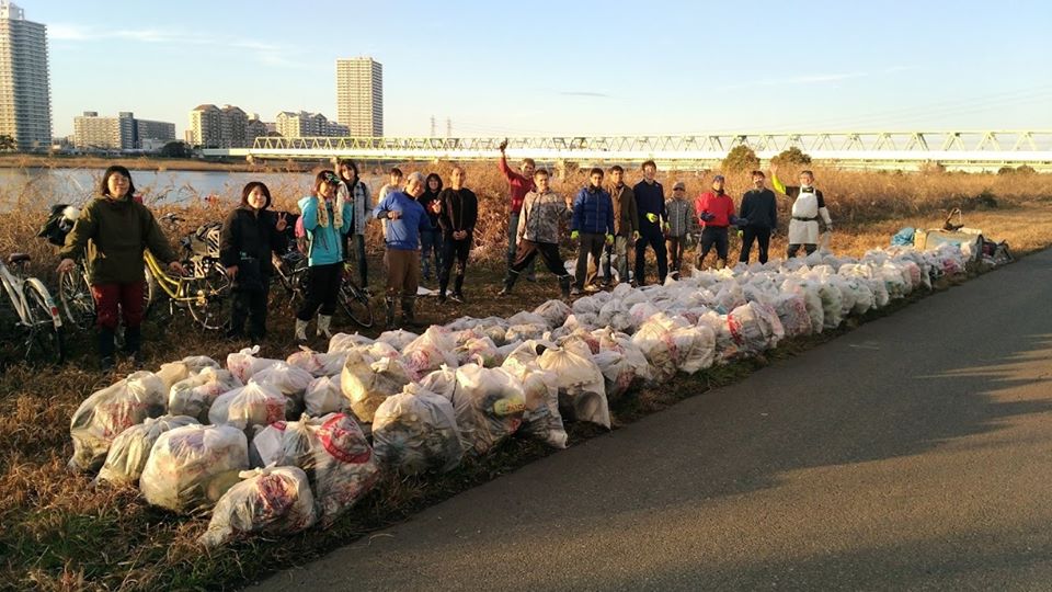
M 399 358 L 373 360 L 357 351 L 348 352 L 340 376 L 340 388 L 359 420 L 371 423 L 376 408 L 391 395 L 412 383 L 414 374 Z

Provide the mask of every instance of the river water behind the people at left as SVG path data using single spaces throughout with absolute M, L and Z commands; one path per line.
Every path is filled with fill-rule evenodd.
M 79 205 L 98 192 L 104 169 L 0 169 L 0 212 L 15 207 L 42 210 L 52 204 Z M 374 194 L 386 182 L 380 175 L 363 180 Z M 136 192 L 147 204 L 190 204 L 209 196 L 236 203 L 249 181 L 262 181 L 275 197 L 296 200 L 310 193 L 313 175 L 227 171 L 132 171 Z

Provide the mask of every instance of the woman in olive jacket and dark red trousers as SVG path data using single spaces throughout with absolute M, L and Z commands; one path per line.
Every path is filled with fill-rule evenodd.
M 104 372 L 114 366 L 118 310 L 124 317 L 125 352 L 136 364 L 142 362 L 142 296 L 146 289 L 142 252 L 148 248 L 174 273 L 186 273 L 175 260 L 153 213 L 134 196 L 132 173 L 121 166 L 106 169 L 99 195 L 84 206 L 59 251 L 62 259 L 58 264 L 59 273 L 73 272 L 76 260 L 87 254 L 88 283 L 95 300 L 99 328 L 100 365 Z

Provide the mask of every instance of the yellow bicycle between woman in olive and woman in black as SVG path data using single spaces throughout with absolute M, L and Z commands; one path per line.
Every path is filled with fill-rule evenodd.
M 210 258 L 194 258 L 187 263 L 191 275 L 172 275 L 165 265 L 146 251 L 146 266 L 157 282 L 157 287 L 169 298 L 169 310 L 186 308 L 191 317 L 205 329 L 216 330 L 226 326 L 226 303 L 230 296 L 230 277 L 218 262 Z

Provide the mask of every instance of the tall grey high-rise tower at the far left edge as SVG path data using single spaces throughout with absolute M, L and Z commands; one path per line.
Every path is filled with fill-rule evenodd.
M 8 0 L 0 0 L 0 135 L 20 150 L 52 145 L 47 27 Z

